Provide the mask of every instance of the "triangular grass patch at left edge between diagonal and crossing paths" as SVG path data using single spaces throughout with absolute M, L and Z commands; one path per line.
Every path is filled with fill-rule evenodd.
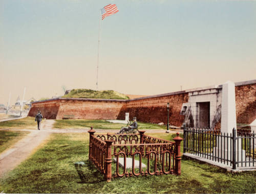
M 22 139 L 28 133 L 29 132 L 0 130 L 0 153 L 11 147 L 14 143 Z

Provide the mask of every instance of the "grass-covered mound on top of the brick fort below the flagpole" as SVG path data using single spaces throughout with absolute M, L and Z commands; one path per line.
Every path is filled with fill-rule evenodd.
M 120 94 L 113 90 L 89 90 L 89 89 L 73 89 L 69 94 L 62 98 L 102 98 L 102 99 L 129 99 L 124 94 Z

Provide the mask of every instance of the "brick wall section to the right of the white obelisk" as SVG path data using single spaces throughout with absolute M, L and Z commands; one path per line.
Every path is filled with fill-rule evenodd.
M 251 123 L 256 119 L 256 84 L 236 87 L 236 111 L 238 123 Z

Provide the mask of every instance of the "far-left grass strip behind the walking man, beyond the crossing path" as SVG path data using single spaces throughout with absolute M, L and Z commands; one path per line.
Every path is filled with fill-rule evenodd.
M 16 119 L 10 121 L 0 122 L 0 128 L 27 128 L 31 130 L 37 129 L 37 123 L 34 117 L 26 117 L 23 119 Z

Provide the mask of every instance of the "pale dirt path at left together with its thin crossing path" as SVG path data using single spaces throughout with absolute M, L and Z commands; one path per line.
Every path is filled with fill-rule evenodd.
M 52 133 L 86 133 L 90 128 L 84 129 L 53 129 L 55 120 L 44 120 L 41 124 L 41 130 L 20 130 L 29 131 L 30 133 L 23 139 L 19 140 L 11 148 L 0 154 L 0 178 L 8 171 L 14 169 L 17 165 L 23 162 L 37 147 L 43 143 Z M 36 123 L 35 123 L 36 124 Z M 101 130 L 94 129 L 96 133 L 117 133 L 119 130 Z M 12 130 L 10 130 L 12 131 Z M 146 133 L 165 133 L 165 130 L 144 130 Z M 182 133 L 182 130 L 171 131 L 170 134 Z

